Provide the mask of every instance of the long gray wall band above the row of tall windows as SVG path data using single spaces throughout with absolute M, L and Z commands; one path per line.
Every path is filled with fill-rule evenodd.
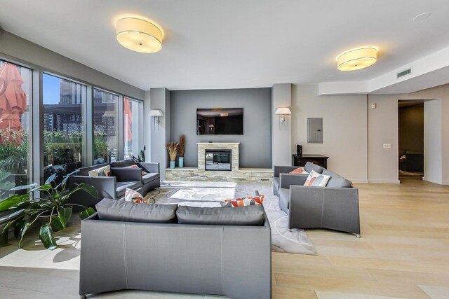
M 50 71 L 66 78 L 93 84 L 134 99 L 144 99 L 144 91 L 84 64 L 43 48 L 9 32 L 0 32 L 0 57 L 34 69 Z

